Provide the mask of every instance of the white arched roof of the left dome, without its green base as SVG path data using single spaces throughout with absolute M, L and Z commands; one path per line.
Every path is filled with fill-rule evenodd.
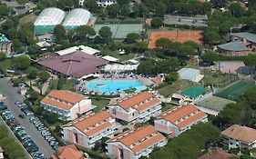
M 61 9 L 50 7 L 44 9 L 36 18 L 34 25 L 59 25 L 64 19 L 65 13 Z

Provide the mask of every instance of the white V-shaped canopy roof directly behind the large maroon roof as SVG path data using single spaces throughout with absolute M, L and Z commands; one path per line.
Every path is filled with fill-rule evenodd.
M 81 52 L 86 53 L 88 55 L 95 55 L 100 52 L 97 49 L 94 49 L 94 48 L 91 48 L 88 46 L 84 46 L 84 45 L 79 45 L 79 46 L 73 46 L 73 47 L 69 47 L 64 50 L 57 51 L 56 54 L 57 55 L 68 55 L 70 53 L 77 51 L 78 49 L 81 49 Z

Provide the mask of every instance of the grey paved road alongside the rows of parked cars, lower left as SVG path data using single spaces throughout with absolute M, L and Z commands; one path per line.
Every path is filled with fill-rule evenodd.
M 47 158 L 50 157 L 51 154 L 54 153 L 51 146 L 46 142 L 45 138 L 36 130 L 34 124 L 29 122 L 29 118 L 26 119 L 19 118 L 19 114 L 23 114 L 21 110 L 15 105 L 15 101 L 24 100 L 25 98 L 20 94 L 17 94 L 17 88 L 13 87 L 11 83 L 9 83 L 5 79 L 0 79 L 0 92 L 5 94 L 6 99 L 4 100 L 8 109 L 15 115 L 15 118 L 18 120 L 20 124 L 25 127 L 26 133 L 31 136 L 31 139 L 36 143 L 39 147 L 39 151 L 42 154 L 45 154 Z

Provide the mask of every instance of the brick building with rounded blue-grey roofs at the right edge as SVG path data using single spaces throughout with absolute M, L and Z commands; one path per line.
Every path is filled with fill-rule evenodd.
M 230 42 L 223 45 L 218 45 L 217 51 L 221 55 L 249 55 L 256 52 L 256 35 L 247 32 L 232 33 L 230 35 Z

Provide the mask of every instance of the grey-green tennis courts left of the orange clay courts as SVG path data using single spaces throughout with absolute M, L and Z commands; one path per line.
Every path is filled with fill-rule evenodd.
M 96 33 L 98 33 L 103 26 L 110 28 L 113 39 L 125 39 L 129 33 L 138 33 L 140 35 L 143 29 L 143 24 L 95 25 L 94 29 Z

